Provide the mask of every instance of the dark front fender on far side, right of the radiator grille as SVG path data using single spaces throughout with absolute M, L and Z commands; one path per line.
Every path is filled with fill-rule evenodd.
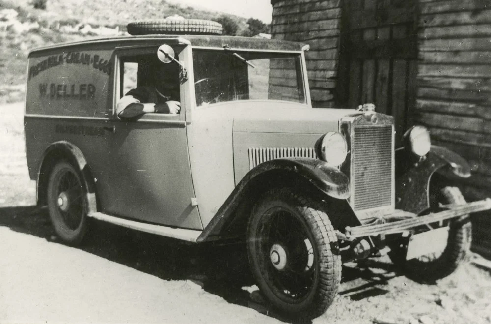
M 428 209 L 430 178 L 435 172 L 448 174 L 450 171 L 457 177 L 470 177 L 469 164 L 457 153 L 432 145 L 426 159 L 409 163 L 404 150 L 396 155 L 396 209 L 415 214 Z M 401 170 L 402 169 L 402 170 Z

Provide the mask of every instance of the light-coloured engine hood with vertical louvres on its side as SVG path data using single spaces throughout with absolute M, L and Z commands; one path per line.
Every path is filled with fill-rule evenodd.
M 297 106 L 297 107 L 296 107 Z M 234 114 L 233 150 L 236 184 L 260 163 L 281 157 L 314 158 L 320 136 L 338 131 L 343 117 L 355 110 L 261 104 Z

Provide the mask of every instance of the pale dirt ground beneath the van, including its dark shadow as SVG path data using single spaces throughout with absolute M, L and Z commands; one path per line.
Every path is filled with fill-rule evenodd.
M 241 247 L 188 246 L 93 223 L 60 244 L 27 176 L 22 105 L 0 107 L 0 323 L 278 323 Z M 343 267 L 340 294 L 314 323 L 491 323 L 490 273 L 472 264 L 434 285 L 386 257 Z

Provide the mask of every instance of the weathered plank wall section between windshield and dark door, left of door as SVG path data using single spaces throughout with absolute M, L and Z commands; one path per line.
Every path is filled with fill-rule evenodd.
M 314 107 L 333 107 L 338 70 L 341 0 L 272 0 L 272 37 L 307 43 Z

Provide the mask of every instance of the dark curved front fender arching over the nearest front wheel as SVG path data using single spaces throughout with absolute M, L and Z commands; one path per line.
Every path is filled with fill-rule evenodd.
M 276 182 L 269 183 L 272 175 L 281 177 L 281 182 L 296 185 L 296 180 L 308 181 L 322 193 L 337 199 L 350 197 L 349 179 L 339 169 L 326 162 L 309 158 L 282 158 L 261 163 L 250 170 L 237 184 L 227 200 L 218 209 L 218 212 L 198 237 L 198 242 L 206 241 L 209 236 L 218 235 L 224 225 L 231 221 L 233 212 L 243 199 L 247 199 L 248 192 L 259 187 L 272 187 Z

